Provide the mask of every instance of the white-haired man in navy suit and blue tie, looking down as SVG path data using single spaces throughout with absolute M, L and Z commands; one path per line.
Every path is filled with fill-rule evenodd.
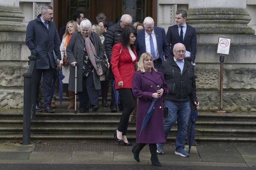
M 149 52 L 153 55 L 154 68 L 159 69 L 162 62 L 171 57 L 165 29 L 154 27 L 154 20 L 151 17 L 146 17 L 143 23 L 145 29 L 137 32 L 135 41 L 138 60 L 141 54 Z

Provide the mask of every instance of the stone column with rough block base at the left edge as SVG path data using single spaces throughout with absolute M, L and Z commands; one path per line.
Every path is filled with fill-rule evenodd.
M 29 49 L 19 0 L 0 0 L 0 108 L 23 107 L 23 74 Z

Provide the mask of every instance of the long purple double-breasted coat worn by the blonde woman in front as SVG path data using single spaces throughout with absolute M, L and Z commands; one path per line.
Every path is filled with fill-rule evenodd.
M 169 90 L 164 79 L 164 75 L 161 71 L 152 70 L 152 75 L 149 72 L 137 71 L 133 75 L 132 81 L 132 93 L 135 98 L 138 98 L 137 107 L 137 124 L 136 124 L 136 142 L 155 144 L 164 143 L 165 132 L 164 132 L 164 120 L 163 120 L 163 97 L 156 101 L 153 109 L 152 116 L 147 123 L 147 126 L 139 135 L 141 130 L 141 124 L 147 113 L 148 108 L 153 100 L 152 93 L 156 92 L 158 85 L 162 84 L 164 94 L 168 94 Z

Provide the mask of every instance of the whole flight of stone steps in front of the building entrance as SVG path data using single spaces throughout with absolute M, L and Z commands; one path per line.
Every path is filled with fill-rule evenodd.
M 59 103 L 57 102 L 57 107 Z M 77 113 L 64 109 L 62 102 L 56 113 L 37 113 L 31 123 L 31 142 L 38 141 L 104 141 L 113 142 L 121 112 L 111 113 L 109 107 L 97 112 Z M 22 140 L 23 110 L 0 110 L 0 141 Z M 127 136 L 135 142 L 136 125 L 129 122 Z M 177 124 L 171 130 L 168 142 L 174 142 Z M 195 141 L 197 142 L 255 142 L 256 112 L 212 113 L 198 112 Z

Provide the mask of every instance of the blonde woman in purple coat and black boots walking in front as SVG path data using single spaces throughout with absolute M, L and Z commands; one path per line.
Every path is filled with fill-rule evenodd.
M 132 148 L 132 153 L 136 161 L 140 161 L 139 153 L 148 144 L 151 153 L 151 163 L 154 166 L 162 166 L 156 153 L 156 143 L 165 142 L 164 120 L 163 120 L 163 98 L 167 94 L 168 87 L 164 75 L 161 71 L 154 69 L 153 57 L 150 53 L 143 53 L 138 61 L 139 71 L 135 72 L 132 81 L 132 93 L 138 98 L 137 124 L 136 124 L 136 145 Z M 159 85 L 162 88 L 158 90 Z M 157 98 L 151 118 L 147 126 L 142 131 L 141 124 L 153 100 Z

